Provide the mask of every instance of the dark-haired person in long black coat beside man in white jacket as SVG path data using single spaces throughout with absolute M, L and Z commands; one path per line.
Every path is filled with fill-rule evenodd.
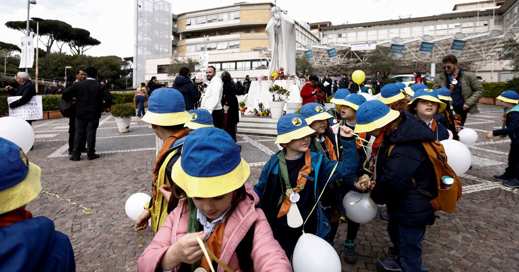
M 222 73 L 223 94 L 222 94 L 222 107 L 224 113 L 227 113 L 224 130 L 229 133 L 230 137 L 236 142 L 236 126 L 239 122 L 239 105 L 238 98 L 236 97 L 236 89 L 233 84 L 233 78 L 229 72 L 224 71 Z

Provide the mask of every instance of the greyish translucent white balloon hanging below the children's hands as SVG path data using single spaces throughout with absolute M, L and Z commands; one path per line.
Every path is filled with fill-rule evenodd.
M 352 202 L 357 203 L 352 205 Z M 375 201 L 370 198 L 369 194 L 350 191 L 343 199 L 343 206 L 346 209 L 346 216 L 353 222 L 359 224 L 370 222 L 377 215 L 378 206 Z

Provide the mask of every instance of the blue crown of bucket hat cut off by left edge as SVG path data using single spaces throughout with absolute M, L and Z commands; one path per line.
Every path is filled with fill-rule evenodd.
M 0 138 L 0 191 L 22 182 L 29 174 L 29 160 L 22 148 L 15 143 Z

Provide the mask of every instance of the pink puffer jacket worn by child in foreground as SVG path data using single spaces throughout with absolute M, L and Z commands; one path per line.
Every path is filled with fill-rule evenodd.
M 261 209 L 254 207 L 260 199 L 250 185 L 245 184 L 245 188 L 248 197 L 238 203 L 234 212 L 227 219 L 220 260 L 233 271 L 241 271 L 235 250 L 252 224 L 255 224 L 251 254 L 254 271 L 292 271 L 292 266 L 284 250 L 272 235 L 265 214 Z M 168 215 L 153 241 L 148 244 L 139 257 L 138 271 L 155 271 L 157 267 L 160 267 L 162 255 L 171 244 L 187 233 L 188 213 L 181 212 L 184 202 L 185 200 L 181 200 Z M 218 271 L 224 272 L 224 269 L 218 266 Z

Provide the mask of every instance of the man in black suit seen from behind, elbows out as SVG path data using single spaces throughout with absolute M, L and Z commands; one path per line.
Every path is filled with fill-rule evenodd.
M 85 72 L 87 79 L 78 82 L 63 91 L 63 99 L 72 101 L 76 98 L 76 135 L 74 138 L 74 151 L 70 160 L 80 160 L 80 147 L 87 143 L 87 158 L 89 160 L 99 158 L 95 154 L 95 133 L 99 127 L 99 119 L 103 111 L 103 100 L 112 99 L 106 86 L 99 83 L 97 69 L 89 66 Z

